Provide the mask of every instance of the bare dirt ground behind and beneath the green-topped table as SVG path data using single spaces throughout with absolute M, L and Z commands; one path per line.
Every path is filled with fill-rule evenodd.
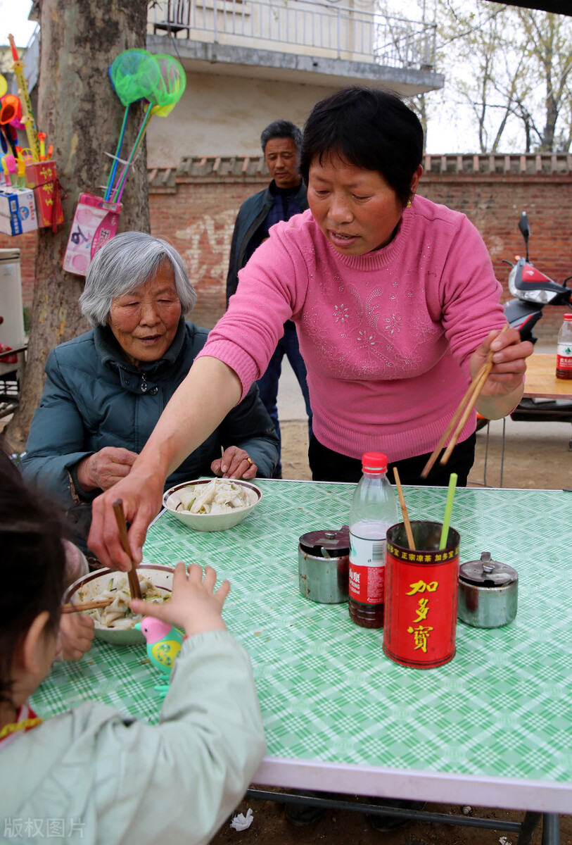
M 304 421 L 280 421 L 283 439 L 283 477 L 310 479 L 307 461 L 308 434 Z M 572 487 L 572 451 L 568 423 L 515 423 L 507 420 L 503 487 L 562 489 Z M 478 432 L 477 455 L 469 484 L 483 484 L 487 451 L 486 429 Z M 491 423 L 488 435 L 487 477 L 489 486 L 500 486 L 502 423 Z M 570 500 L 572 504 L 572 499 Z M 261 787 L 262 788 L 262 787 Z M 412 796 L 413 798 L 415 796 Z M 283 804 L 276 801 L 246 799 L 235 813 L 251 807 L 254 820 L 246 831 L 231 828 L 225 821 L 211 845 L 516 845 L 517 834 L 510 831 L 444 825 L 434 822 L 410 822 L 394 833 L 374 831 L 364 815 L 350 810 L 327 810 L 326 815 L 306 827 L 292 826 L 284 816 Z M 462 815 L 457 805 L 428 804 L 429 812 Z M 522 812 L 472 807 L 473 817 L 520 822 Z M 532 839 L 541 845 L 542 824 Z M 572 815 L 560 817 L 560 842 L 572 845 Z

